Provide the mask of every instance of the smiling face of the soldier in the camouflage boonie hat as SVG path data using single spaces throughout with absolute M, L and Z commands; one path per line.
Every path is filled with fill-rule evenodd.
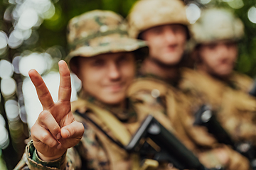
M 132 52 L 119 52 L 78 58 L 77 75 L 83 90 L 110 105 L 124 101 L 135 74 Z

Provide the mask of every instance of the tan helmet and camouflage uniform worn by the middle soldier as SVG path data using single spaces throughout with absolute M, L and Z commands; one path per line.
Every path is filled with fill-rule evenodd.
M 129 13 L 128 20 L 129 34 L 133 38 L 139 38 L 140 33 L 154 26 L 172 23 L 188 26 L 185 6 L 176 0 L 138 1 Z M 206 167 L 249 169 L 245 157 L 226 145 L 220 145 L 205 128 L 193 125 L 193 110 L 186 96 L 175 86 L 178 83 L 166 82 L 154 75 L 142 75 L 130 86 L 128 96 L 133 101 L 148 105 L 148 108 L 159 108 L 171 120 L 176 137 L 191 149 Z M 151 114 L 154 115 L 152 112 Z M 220 160 L 213 154 L 220 148 L 228 152 L 228 164 L 221 165 Z

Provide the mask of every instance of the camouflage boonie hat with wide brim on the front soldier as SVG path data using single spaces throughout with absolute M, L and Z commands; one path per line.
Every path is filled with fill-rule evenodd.
M 112 11 L 94 10 L 72 18 L 68 24 L 69 63 L 73 57 L 93 57 L 108 52 L 132 52 L 146 42 L 128 37 L 127 23 Z

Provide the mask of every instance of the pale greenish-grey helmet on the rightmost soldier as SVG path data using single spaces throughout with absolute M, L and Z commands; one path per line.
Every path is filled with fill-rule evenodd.
M 209 8 L 191 25 L 192 39 L 196 44 L 216 40 L 240 40 L 244 35 L 242 21 L 232 11 L 224 8 Z

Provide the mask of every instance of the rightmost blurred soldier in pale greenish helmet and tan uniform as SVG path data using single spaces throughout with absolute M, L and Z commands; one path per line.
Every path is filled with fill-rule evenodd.
M 190 96 L 192 105 L 196 101 L 210 105 L 233 140 L 256 144 L 256 101 L 247 95 L 252 79 L 233 71 L 243 28 L 231 11 L 203 11 L 191 26 L 196 71 L 184 72 L 181 89 Z

